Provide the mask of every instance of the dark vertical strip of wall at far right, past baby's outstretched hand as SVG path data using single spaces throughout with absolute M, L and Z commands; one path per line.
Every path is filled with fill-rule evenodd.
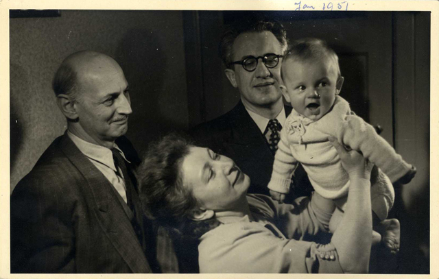
M 430 14 L 394 14 L 395 149 L 418 170 L 396 186 L 401 221 L 401 273 L 429 273 L 430 238 Z M 434 251 L 434 250 L 433 250 Z

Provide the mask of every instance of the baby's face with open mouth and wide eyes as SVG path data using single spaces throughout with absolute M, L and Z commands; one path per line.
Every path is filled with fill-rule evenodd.
M 281 90 L 294 110 L 314 121 L 331 110 L 343 84 L 333 63 L 289 59 L 282 68 L 286 88 L 281 86 Z

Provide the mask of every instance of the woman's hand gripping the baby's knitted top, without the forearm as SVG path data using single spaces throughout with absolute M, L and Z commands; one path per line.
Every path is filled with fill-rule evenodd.
M 366 160 L 366 158 L 355 150 L 348 151 L 344 145 L 340 144 L 333 136 L 329 136 L 328 141 L 330 141 L 333 147 L 337 150 L 338 156 L 340 156 L 340 159 L 342 160 L 342 166 L 348 173 L 350 179 L 370 179 L 370 171 L 373 167 L 371 162 Z

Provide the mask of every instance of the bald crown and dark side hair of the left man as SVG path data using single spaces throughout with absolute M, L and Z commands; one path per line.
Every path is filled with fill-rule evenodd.
M 95 51 L 78 51 L 62 61 L 56 71 L 53 89 L 55 95 L 68 95 L 73 101 L 80 99 L 82 82 L 88 77 L 93 77 L 106 66 L 114 66 L 120 69 L 119 64 L 103 53 Z

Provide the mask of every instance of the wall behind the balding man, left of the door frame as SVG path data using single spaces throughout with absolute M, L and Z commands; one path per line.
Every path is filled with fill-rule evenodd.
M 92 49 L 121 64 L 130 84 L 128 136 L 139 152 L 158 133 L 187 128 L 181 11 L 62 10 L 10 19 L 11 191 L 67 123 L 51 80 L 70 53 Z

